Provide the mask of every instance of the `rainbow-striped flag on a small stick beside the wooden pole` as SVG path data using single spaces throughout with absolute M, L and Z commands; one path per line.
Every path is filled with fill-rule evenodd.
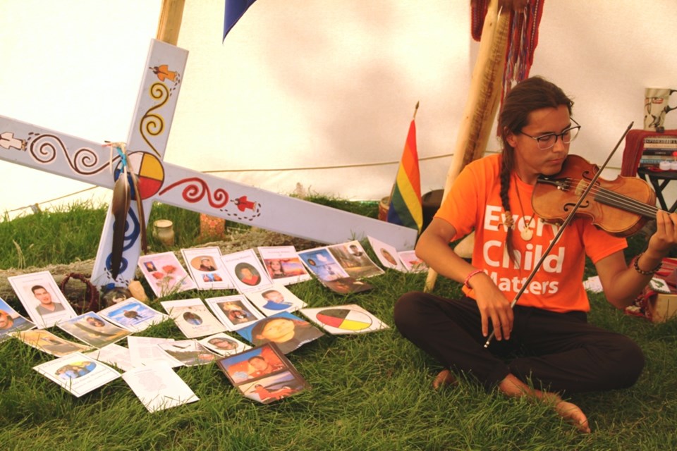
M 421 202 L 421 175 L 418 169 L 416 150 L 416 123 L 409 125 L 407 141 L 397 178 L 390 196 L 386 221 L 400 226 L 416 228 L 419 233 L 423 227 L 423 206 Z

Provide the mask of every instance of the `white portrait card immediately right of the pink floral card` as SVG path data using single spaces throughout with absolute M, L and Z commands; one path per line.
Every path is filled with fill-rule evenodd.
M 221 263 L 218 247 L 181 249 L 186 268 L 193 276 L 198 290 L 228 290 L 235 288 Z

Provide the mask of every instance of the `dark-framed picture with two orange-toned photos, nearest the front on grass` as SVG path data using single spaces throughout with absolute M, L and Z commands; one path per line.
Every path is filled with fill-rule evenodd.
M 276 345 L 267 343 L 216 362 L 245 397 L 269 404 L 310 388 Z

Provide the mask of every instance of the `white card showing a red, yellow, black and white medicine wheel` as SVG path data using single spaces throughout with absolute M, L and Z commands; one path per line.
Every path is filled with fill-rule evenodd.
M 310 321 L 332 335 L 366 333 L 389 326 L 357 304 L 301 309 Z

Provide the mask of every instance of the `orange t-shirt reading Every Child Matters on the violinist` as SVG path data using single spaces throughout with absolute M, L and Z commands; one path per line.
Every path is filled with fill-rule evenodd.
M 512 300 L 550 245 L 559 226 L 545 223 L 538 217 L 530 221 L 534 216 L 531 206 L 533 186 L 513 175 L 508 198 L 515 224 L 512 240 L 518 267 L 508 259 L 500 196 L 500 164 L 501 155 L 496 154 L 465 166 L 435 217 L 444 219 L 456 229 L 452 240 L 475 230 L 472 265 L 489 274 L 506 297 Z M 528 241 L 520 236 L 525 226 L 533 232 L 532 239 Z M 609 235 L 589 219 L 576 218 L 551 249 L 520 296 L 518 305 L 558 312 L 589 311 L 590 302 L 583 288 L 585 255 L 597 263 L 626 247 L 625 238 Z M 466 287 L 463 290 L 473 297 L 472 290 Z

